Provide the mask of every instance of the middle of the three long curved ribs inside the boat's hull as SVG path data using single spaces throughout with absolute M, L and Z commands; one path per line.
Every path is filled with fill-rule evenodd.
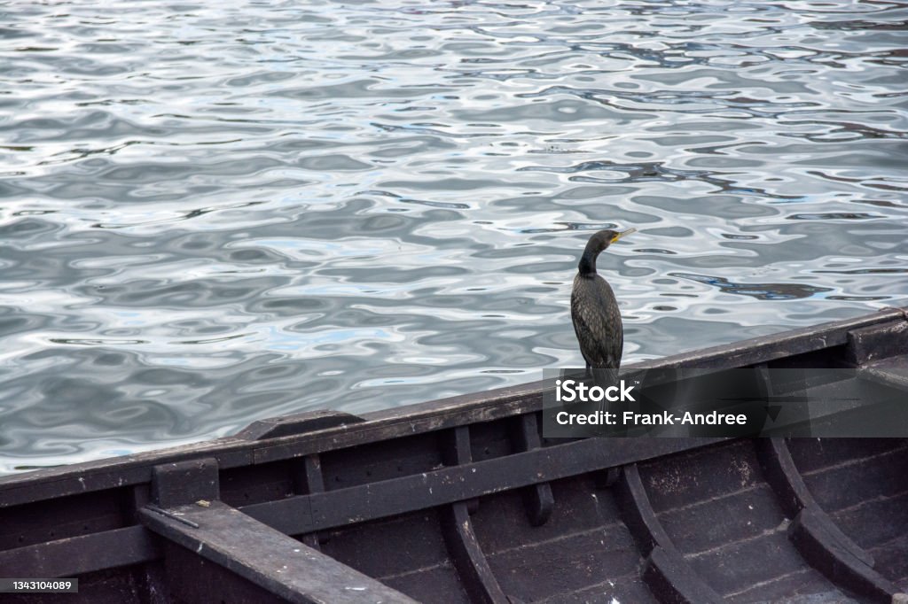
M 721 602 L 722 598 L 700 579 L 663 528 L 646 495 L 637 464 L 622 468 L 616 486 L 625 524 L 646 556 L 643 578 L 656 598 L 684 604 Z

